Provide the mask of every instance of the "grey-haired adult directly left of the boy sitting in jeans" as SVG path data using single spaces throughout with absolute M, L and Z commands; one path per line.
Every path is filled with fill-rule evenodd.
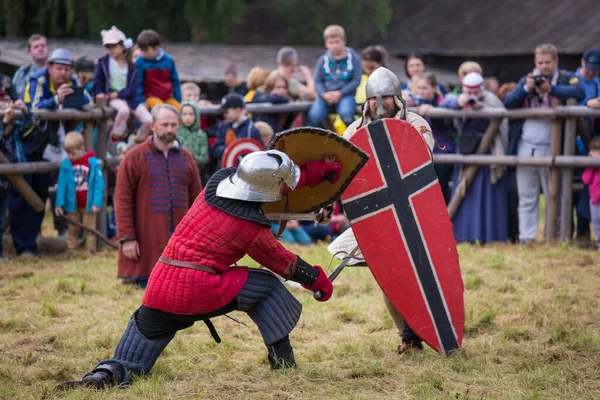
M 306 84 L 294 77 L 298 70 Z M 298 52 L 293 47 L 282 47 L 277 52 L 277 71 L 288 80 L 288 98 L 292 100 L 314 100 L 317 98 L 315 80 L 310 68 L 298 65 Z

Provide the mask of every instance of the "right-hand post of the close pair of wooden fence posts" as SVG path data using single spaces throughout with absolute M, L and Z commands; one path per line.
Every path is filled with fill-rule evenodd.
M 567 100 L 567 105 L 575 105 L 575 99 Z M 575 155 L 575 139 L 577 137 L 577 120 L 575 117 L 567 118 L 565 122 L 565 139 L 563 155 Z M 561 170 L 561 202 L 560 202 L 560 240 L 571 240 L 573 235 L 573 168 Z

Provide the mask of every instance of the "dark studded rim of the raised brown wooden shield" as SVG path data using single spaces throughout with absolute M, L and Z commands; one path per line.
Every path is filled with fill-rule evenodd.
M 348 186 L 350 186 L 350 183 L 352 183 L 352 180 L 356 177 L 356 175 L 360 172 L 360 170 L 367 164 L 367 162 L 369 161 L 369 154 L 367 152 L 365 152 L 364 150 L 360 149 L 354 143 L 350 142 L 348 139 L 345 139 L 344 137 L 342 137 L 341 135 L 338 135 L 335 132 L 332 132 L 330 130 L 323 129 L 323 128 L 312 127 L 312 126 L 301 126 L 298 128 L 290 128 L 290 129 L 286 129 L 285 131 L 278 132 L 271 138 L 271 141 L 269 142 L 266 150 L 277 150 L 274 147 L 280 140 L 282 140 L 282 138 L 294 135 L 298 131 L 308 132 L 311 134 L 317 134 L 319 136 L 327 136 L 328 139 L 335 140 L 336 142 L 341 143 L 343 147 L 350 149 L 350 151 L 352 151 L 353 153 L 356 153 L 360 157 L 360 162 L 350 172 L 350 174 L 348 175 L 348 178 L 346 179 L 344 184 L 342 184 L 342 186 L 340 186 L 340 188 L 332 196 L 330 196 L 329 198 L 327 198 L 326 200 L 320 202 L 319 204 L 317 204 L 315 206 L 312 206 L 310 208 L 303 209 L 300 211 L 295 211 L 295 212 L 300 212 L 300 213 L 309 213 L 309 212 L 313 212 L 313 211 L 318 211 L 323 207 L 327 207 L 327 206 L 331 205 L 333 202 L 335 202 L 337 199 L 339 199 L 342 196 L 342 194 L 344 193 L 344 191 L 348 188 Z M 285 153 L 285 151 L 284 151 L 284 153 Z

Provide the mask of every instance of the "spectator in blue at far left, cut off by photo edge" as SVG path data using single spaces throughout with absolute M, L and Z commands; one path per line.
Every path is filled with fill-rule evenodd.
M 23 120 L 15 120 L 15 110 L 21 110 Z M 27 106 L 18 100 L 9 105 L 4 111 L 4 117 L 0 122 L 0 152 L 8 162 L 27 162 L 21 136 L 28 132 L 34 124 L 33 114 L 27 110 Z M 0 232 L 4 232 L 6 211 L 9 208 L 11 191 L 15 191 L 6 176 L 0 176 Z M 2 240 L 0 240 L 0 261 L 3 257 Z

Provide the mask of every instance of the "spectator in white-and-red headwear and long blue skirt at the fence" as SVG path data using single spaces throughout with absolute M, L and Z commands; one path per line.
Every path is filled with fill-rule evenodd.
M 502 102 L 483 87 L 484 80 L 475 72 L 462 81 L 462 94 L 446 97 L 440 107 L 481 110 L 487 107 L 504 109 Z M 474 154 L 491 124 L 489 118 L 470 118 L 458 123 L 460 154 Z M 499 132 L 486 154 L 504 155 L 508 144 L 508 121 L 503 119 Z M 468 168 L 454 168 L 452 198 L 463 196 L 460 208 L 452 218 L 457 242 L 504 242 L 508 240 L 508 186 L 503 166 L 480 166 L 471 185 L 465 185 Z

